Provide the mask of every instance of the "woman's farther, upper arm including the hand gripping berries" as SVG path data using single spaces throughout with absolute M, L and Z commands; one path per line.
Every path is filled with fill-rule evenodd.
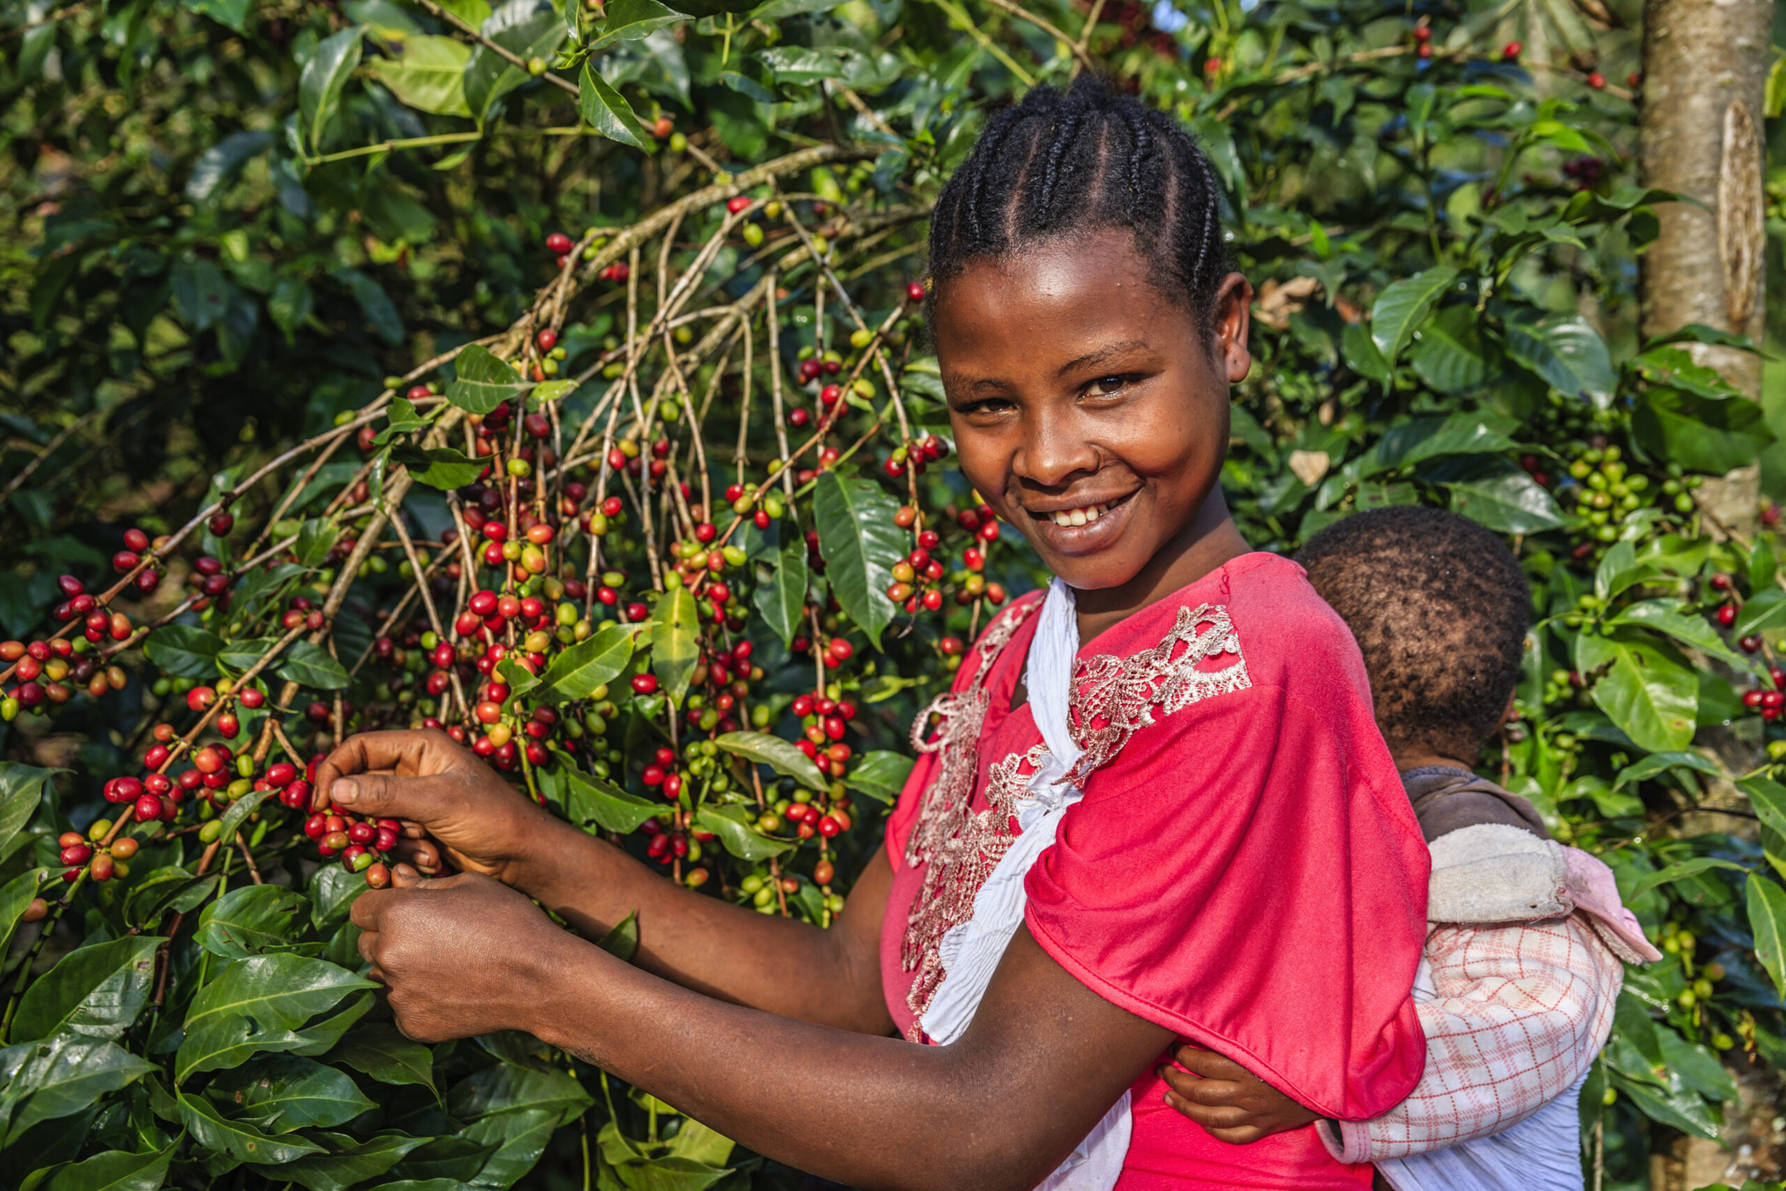
M 634 962 L 666 980 L 843 1030 L 893 1029 L 880 995 L 880 916 L 893 871 L 880 855 L 841 921 L 820 930 L 664 880 L 555 820 L 441 732 L 352 736 L 318 766 L 316 787 L 355 814 L 404 820 L 402 852 L 418 868 L 438 870 L 445 854 L 538 898 L 586 937 L 638 912 Z

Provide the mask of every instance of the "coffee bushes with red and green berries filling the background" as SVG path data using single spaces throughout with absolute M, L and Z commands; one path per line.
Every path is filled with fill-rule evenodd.
M 445 730 L 666 880 L 827 925 L 913 714 L 1043 579 L 948 464 L 929 204 L 988 105 L 1086 66 L 1222 175 L 1250 541 L 1429 502 L 1527 562 L 1482 764 L 1668 954 L 1582 1096 L 1595 1186 L 1681 1136 L 1779 1175 L 1786 584 L 1775 507 L 1702 498 L 1770 434 L 1697 355 L 1757 345 L 1638 341 L 1675 198 L 1631 180 L 1629 32 L 1373 0 L 4 21 L 7 1187 L 804 1186 L 534 1039 L 402 1037 L 346 921 L 395 825 L 313 811 L 314 764 Z

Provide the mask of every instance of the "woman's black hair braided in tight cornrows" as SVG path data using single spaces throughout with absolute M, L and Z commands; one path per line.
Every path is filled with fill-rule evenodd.
M 1207 330 L 1227 275 L 1214 170 L 1172 120 L 1081 75 L 1064 95 L 1036 87 L 986 125 L 936 202 L 931 277 L 1106 227 L 1134 230 L 1154 286 Z

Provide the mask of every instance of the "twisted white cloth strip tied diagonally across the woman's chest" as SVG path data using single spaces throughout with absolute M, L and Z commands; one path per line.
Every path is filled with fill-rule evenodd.
M 1057 786 L 1073 762 L 1079 746 L 1068 730 L 1068 702 L 1073 684 L 1073 657 L 1079 654 L 1079 620 L 1073 589 L 1056 579 L 1041 605 L 1036 639 L 1029 646 L 1023 686 L 1029 709 L 1047 745 L 1043 764 L 1029 780 L 1029 795 L 1018 804 L 1022 834 L 993 868 L 973 898 L 973 918 L 943 936 L 945 979 L 925 1011 L 922 1025 L 938 1045 L 961 1037 L 981 1007 L 986 986 L 1004 957 L 1011 936 L 1023 925 L 1023 877 L 1029 866 L 1054 843 L 1066 809 L 1084 796 L 1077 786 Z M 1129 1154 L 1129 1093 L 1104 1114 L 1061 1168 L 1041 1180 L 1036 1191 L 1111 1191 Z

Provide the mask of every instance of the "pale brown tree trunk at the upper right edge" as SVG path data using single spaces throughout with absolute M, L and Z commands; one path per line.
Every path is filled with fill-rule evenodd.
M 1648 0 L 1643 7 L 1645 186 L 1704 204 L 1657 209 L 1661 236 L 1643 255 L 1643 336 L 1686 323 L 1745 334 L 1761 345 L 1763 266 L 1761 129 L 1773 0 Z M 1761 359 L 1698 346 L 1693 355 L 1750 396 L 1761 396 Z M 1706 507 L 1723 525 L 1754 532 L 1761 464 L 1707 480 Z

